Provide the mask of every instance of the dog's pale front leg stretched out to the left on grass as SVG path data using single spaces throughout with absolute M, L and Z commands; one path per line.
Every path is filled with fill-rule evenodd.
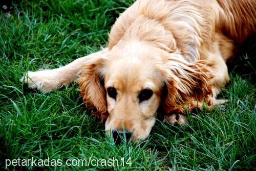
M 82 65 L 105 55 L 108 51 L 108 48 L 104 48 L 102 51 L 76 59 L 68 65 L 56 69 L 29 71 L 20 81 L 24 81 L 29 88 L 39 89 L 42 92 L 55 90 L 63 85 L 68 86 L 75 81 L 78 72 L 82 69 Z

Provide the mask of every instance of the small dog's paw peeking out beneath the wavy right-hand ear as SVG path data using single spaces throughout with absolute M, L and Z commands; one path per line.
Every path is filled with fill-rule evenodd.
M 163 122 L 170 123 L 176 126 L 185 126 L 188 123 L 188 118 L 184 114 L 171 114 L 165 115 Z

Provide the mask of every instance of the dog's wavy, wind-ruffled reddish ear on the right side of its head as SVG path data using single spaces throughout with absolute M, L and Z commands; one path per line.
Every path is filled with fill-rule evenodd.
M 184 106 L 191 111 L 198 102 L 211 105 L 211 79 L 214 78 L 211 67 L 212 64 L 205 60 L 188 63 L 168 59 L 160 69 L 167 89 L 162 102 L 165 113 L 184 113 Z

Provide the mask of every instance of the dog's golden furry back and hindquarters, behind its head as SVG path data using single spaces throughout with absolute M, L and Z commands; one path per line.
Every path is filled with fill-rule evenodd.
M 212 44 L 219 41 L 217 44 L 223 46 L 220 48 L 226 61 L 233 56 L 236 45 L 241 45 L 256 32 L 255 12 L 256 1 L 253 0 L 207 0 L 204 3 L 192 0 L 138 0 L 115 22 L 110 33 L 109 48 L 124 39 L 126 31 L 133 29 L 131 27 L 135 26 L 133 23 L 139 16 L 145 16 L 148 18 L 144 20 L 147 26 L 150 19 L 156 20 L 159 28 L 170 32 L 173 39 L 165 44 L 172 45 L 170 52 L 181 52 L 187 61 L 207 59 Z M 143 20 L 139 24 L 143 25 Z

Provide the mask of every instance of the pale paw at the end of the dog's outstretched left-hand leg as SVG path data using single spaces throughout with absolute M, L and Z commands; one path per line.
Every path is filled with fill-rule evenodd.
M 42 92 L 49 92 L 61 86 L 57 77 L 50 70 L 32 72 L 29 71 L 20 80 L 30 89 L 37 89 Z

